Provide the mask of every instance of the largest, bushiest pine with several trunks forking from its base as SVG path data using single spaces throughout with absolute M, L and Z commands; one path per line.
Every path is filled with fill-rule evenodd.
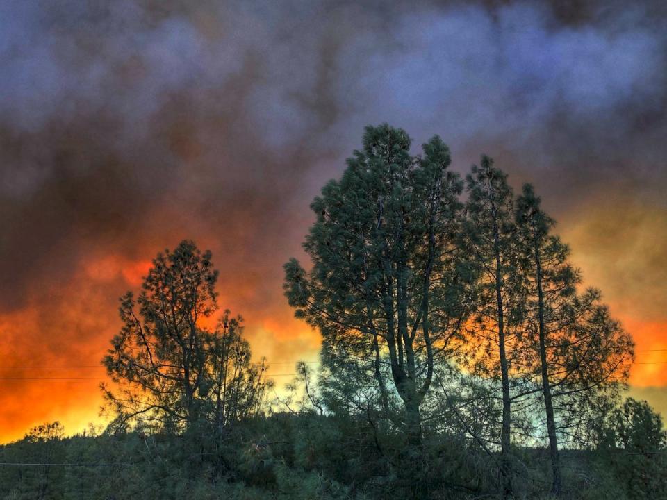
M 368 373 L 386 411 L 397 392 L 418 446 L 420 403 L 459 334 L 470 276 L 455 243 L 462 185 L 450 152 L 437 136 L 422 158 L 410 144 L 401 129 L 365 129 L 363 151 L 311 205 L 311 270 L 290 260 L 284 288 L 295 315 L 320 329 L 323 365 Z

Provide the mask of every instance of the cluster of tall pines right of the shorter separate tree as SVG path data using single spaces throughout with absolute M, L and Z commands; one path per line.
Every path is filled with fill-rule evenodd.
M 420 156 L 410 147 L 401 129 L 368 127 L 313 202 L 311 269 L 285 266 L 290 305 L 322 332 L 327 397 L 402 426 L 415 457 L 422 427 L 451 412 L 489 456 L 499 451 L 505 498 L 512 447 L 546 437 L 559 494 L 559 445 L 584 444 L 615 402 L 632 338 L 598 290 L 579 290 L 532 185 L 516 197 L 486 156 L 462 181 L 437 136 Z

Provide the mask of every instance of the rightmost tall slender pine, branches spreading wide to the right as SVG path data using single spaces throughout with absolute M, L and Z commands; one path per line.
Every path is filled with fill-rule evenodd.
M 586 405 L 600 410 L 609 404 L 602 399 L 614 397 L 619 384 L 627 380 L 632 340 L 599 303 L 600 292 L 577 295 L 580 272 L 568 262 L 568 246 L 551 233 L 554 221 L 541 209 L 532 185 L 525 184 L 517 199 L 516 225 L 527 297 L 524 342 L 530 348 L 523 352 L 544 403 L 551 490 L 558 495 L 561 467 L 554 399 L 563 400 L 558 405 L 561 432 L 573 423 L 586 425 Z

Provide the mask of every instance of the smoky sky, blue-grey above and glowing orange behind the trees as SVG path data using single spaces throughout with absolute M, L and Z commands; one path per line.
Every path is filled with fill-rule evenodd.
M 381 122 L 534 183 L 637 360 L 667 361 L 667 4 L 553 3 L 0 0 L 0 365 L 97 365 L 183 238 L 257 356 L 315 359 L 281 265 Z M 24 376 L 104 370 L 0 368 Z M 667 363 L 631 382 L 667 413 Z M 98 383 L 3 378 L 0 440 L 78 430 Z

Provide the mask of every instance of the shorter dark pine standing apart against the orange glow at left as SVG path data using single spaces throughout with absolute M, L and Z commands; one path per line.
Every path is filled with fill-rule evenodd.
M 140 422 L 179 431 L 202 419 L 221 429 L 257 410 L 265 365 L 250 363 L 240 318 L 217 311 L 211 252 L 183 241 L 158 253 L 138 299 L 121 299 L 123 327 L 104 358 L 116 387 L 102 386 L 117 424 Z

